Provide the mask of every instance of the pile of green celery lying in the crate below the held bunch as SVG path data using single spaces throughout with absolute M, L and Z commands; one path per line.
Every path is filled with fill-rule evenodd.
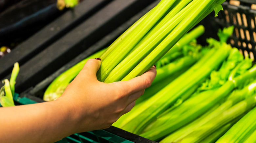
M 256 67 L 225 43 L 232 28 L 219 31 L 220 41 L 208 39 L 198 62 L 114 126 L 160 143 L 218 140 L 256 105 Z

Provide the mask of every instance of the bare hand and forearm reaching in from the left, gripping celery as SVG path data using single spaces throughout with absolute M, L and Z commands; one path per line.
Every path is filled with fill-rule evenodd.
M 0 108 L 1 142 L 55 142 L 74 133 L 105 129 L 129 112 L 156 77 L 152 67 L 129 81 L 99 82 L 101 61 L 89 59 L 57 100 Z

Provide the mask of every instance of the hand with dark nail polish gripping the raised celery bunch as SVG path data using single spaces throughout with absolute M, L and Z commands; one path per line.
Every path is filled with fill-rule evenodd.
M 134 107 L 135 100 L 156 77 L 156 68 L 152 67 L 129 81 L 103 83 L 96 78 L 100 64 L 100 60 L 89 59 L 62 96 L 56 100 L 71 109 L 76 133 L 110 127 Z

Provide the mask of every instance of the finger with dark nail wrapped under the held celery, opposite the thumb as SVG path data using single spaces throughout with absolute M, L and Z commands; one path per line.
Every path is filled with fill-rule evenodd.
M 142 75 L 129 81 L 121 82 L 121 86 L 123 86 L 124 89 L 127 89 L 128 93 L 133 94 L 150 87 L 156 75 L 157 71 L 153 66 L 149 71 L 143 73 Z

